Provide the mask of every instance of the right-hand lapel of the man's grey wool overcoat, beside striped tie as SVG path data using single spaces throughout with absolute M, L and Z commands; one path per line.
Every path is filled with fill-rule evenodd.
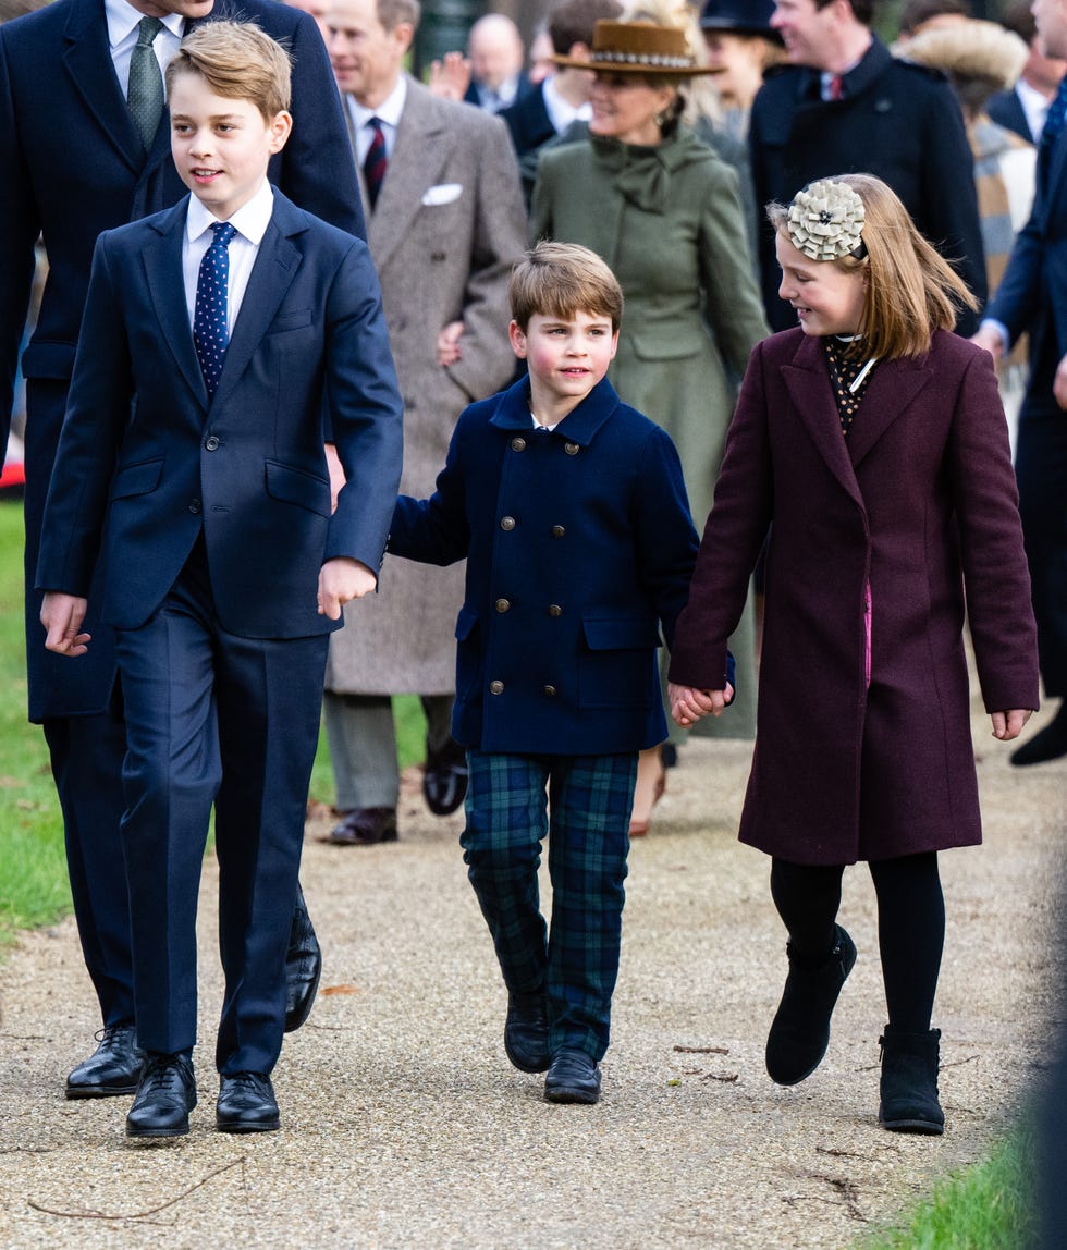
M 434 96 L 414 79 L 407 80 L 407 99 L 396 131 L 377 204 L 367 220 L 367 244 L 379 270 L 406 238 L 422 204 L 422 196 L 437 181 L 452 144 L 435 108 Z

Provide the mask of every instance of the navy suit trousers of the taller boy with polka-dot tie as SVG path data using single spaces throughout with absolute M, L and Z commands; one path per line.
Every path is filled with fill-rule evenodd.
M 270 1072 L 327 635 L 227 634 L 197 544 L 160 610 L 119 630 L 116 646 L 137 1038 L 167 1054 L 196 1040 L 196 900 L 214 804 L 226 978 L 216 1064 Z

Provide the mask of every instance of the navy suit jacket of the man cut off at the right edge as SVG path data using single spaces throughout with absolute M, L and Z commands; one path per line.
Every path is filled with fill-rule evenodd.
M 1047 185 L 1038 169 L 1033 211 L 986 315 L 1003 322 L 1012 342 L 1028 330 L 1031 394 L 1050 404 L 1056 366 L 1067 355 L 1067 131 L 1052 149 Z

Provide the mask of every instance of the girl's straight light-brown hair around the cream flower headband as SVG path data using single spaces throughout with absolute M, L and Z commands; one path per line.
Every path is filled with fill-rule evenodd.
M 837 174 L 822 181 L 851 186 L 866 209 L 858 255 L 815 261 L 837 265 L 845 272 L 867 270 L 860 321 L 863 341 L 855 350 L 881 360 L 925 356 L 933 331 L 953 329 L 957 308 L 977 309 L 978 301 L 948 261 L 916 230 L 907 209 L 881 179 L 871 174 Z M 767 205 L 767 218 L 786 238 L 788 211 L 782 204 Z

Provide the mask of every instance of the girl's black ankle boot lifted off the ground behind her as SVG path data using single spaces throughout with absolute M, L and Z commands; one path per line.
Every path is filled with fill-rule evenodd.
M 822 1062 L 830 1045 L 830 1018 L 837 995 L 856 962 L 856 946 L 835 925 L 830 959 L 818 968 L 800 968 L 790 948 L 790 975 L 767 1034 L 767 1075 L 777 1085 L 798 1085 Z

